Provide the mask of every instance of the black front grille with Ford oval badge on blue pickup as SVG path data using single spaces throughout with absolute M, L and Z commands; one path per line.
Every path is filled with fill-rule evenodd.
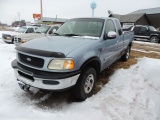
M 20 62 L 34 67 L 42 68 L 44 65 L 44 59 L 42 58 L 32 57 L 21 53 L 18 53 L 18 58 Z

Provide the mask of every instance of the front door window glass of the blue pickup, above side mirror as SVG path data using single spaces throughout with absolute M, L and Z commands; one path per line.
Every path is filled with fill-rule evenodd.
M 112 20 L 107 20 L 106 22 L 106 34 L 108 34 L 109 31 L 116 32 L 116 28 Z

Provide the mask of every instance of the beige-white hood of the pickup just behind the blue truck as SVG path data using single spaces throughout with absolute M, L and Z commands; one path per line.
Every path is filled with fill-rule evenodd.
M 45 34 L 27 33 L 27 34 L 17 35 L 16 37 L 29 41 L 29 40 L 32 40 L 32 39 L 35 39 L 35 38 L 39 38 L 39 37 L 44 37 L 44 36 L 45 36 Z

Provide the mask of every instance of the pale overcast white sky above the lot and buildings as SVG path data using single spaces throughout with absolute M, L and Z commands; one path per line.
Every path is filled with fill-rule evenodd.
M 43 16 L 58 18 L 91 17 L 93 0 L 42 0 Z M 160 0 L 94 0 L 96 17 L 107 17 L 108 10 L 115 14 L 160 7 Z M 33 22 L 33 13 L 40 13 L 40 0 L 0 0 L 0 22 L 11 24 L 20 19 Z

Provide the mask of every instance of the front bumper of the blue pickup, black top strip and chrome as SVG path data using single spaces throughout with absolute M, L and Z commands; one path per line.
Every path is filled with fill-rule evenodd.
M 25 67 L 12 61 L 16 78 L 24 84 L 44 90 L 63 90 L 74 86 L 80 71 L 70 73 L 51 73 Z

